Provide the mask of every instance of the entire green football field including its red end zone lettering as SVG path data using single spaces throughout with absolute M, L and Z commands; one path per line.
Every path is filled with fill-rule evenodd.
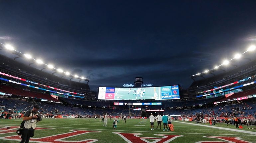
M 235 128 L 233 125 L 227 127 L 226 124 L 209 125 L 195 124 L 194 122 L 186 121 L 173 121 L 174 131 L 167 132 L 163 131 L 163 126 L 161 130 L 156 129 L 156 123 L 154 123 L 154 130 L 151 130 L 149 119 L 127 119 L 126 124 L 124 124 L 122 120 L 119 120 L 117 129 L 112 129 L 112 122 L 113 120 L 108 120 L 107 126 L 105 127 L 103 126 L 103 122 L 100 122 L 99 119 L 96 121 L 94 119 L 43 119 L 43 121 L 37 124 L 37 127 L 53 129 L 35 130 L 34 141 L 31 140 L 30 142 L 85 143 L 88 141 L 84 140 L 90 139 L 91 142 L 96 143 L 162 143 L 164 142 L 164 138 L 170 138 L 170 140 L 164 143 L 196 143 L 203 141 L 211 141 L 208 143 L 214 143 L 212 141 L 219 141 L 215 143 L 225 143 L 227 141 L 219 138 L 225 137 L 225 139 L 227 139 L 227 137 L 229 137 L 228 139 L 231 140 L 234 139 L 232 137 L 239 137 L 240 140 L 234 139 L 233 142 L 230 143 L 256 143 L 256 130 L 248 129 L 245 125 L 243 125 L 243 129 L 240 129 Z M 6 129 L 6 127 L 10 126 L 15 128 L 15 126 L 19 126 L 20 123 L 21 119 L 0 119 L 0 143 L 19 143 L 20 141 L 18 141 L 19 139 L 17 139 L 16 133 Z M 212 127 L 224 127 L 224 129 Z M 255 125 L 252 127 L 256 128 Z M 238 129 L 238 131 L 232 131 L 231 129 Z M 3 133 L 6 131 L 11 132 Z M 85 133 L 85 131 L 96 132 Z M 80 134 L 78 134 L 78 132 Z M 114 132 L 118 132 L 119 134 Z M 155 134 L 168 135 L 168 137 Z

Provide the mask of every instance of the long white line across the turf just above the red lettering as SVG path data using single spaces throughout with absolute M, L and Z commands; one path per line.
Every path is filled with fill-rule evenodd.
M 0 124 L 0 125 L 15 125 L 15 124 Z M 60 127 L 60 128 L 71 128 L 71 129 L 89 129 L 89 130 L 107 130 L 107 131 L 114 131 L 113 129 L 91 129 L 91 128 L 78 128 L 78 127 L 63 127 L 63 126 L 48 126 L 48 125 L 37 125 L 37 126 L 46 126 L 46 127 Z M 125 132 L 150 132 L 150 131 L 134 131 L 134 130 L 118 130 L 116 131 L 125 131 Z M 171 134 L 171 133 L 178 133 L 178 134 L 209 134 L 209 135 L 241 135 L 241 136 L 256 136 L 256 135 L 247 135 L 247 134 L 214 134 L 214 133 L 184 133 L 184 132 L 155 132 L 153 131 L 152 133 L 161 133 L 161 134 Z

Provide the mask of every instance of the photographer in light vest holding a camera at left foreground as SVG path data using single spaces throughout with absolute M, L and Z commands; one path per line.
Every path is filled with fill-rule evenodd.
M 25 112 L 23 116 L 23 121 L 26 121 L 23 126 L 22 130 L 22 140 L 20 143 L 28 143 L 30 137 L 34 136 L 35 128 L 36 128 L 36 123 L 41 121 L 41 115 L 37 113 L 39 109 L 38 105 L 35 105 L 32 110 L 29 110 Z

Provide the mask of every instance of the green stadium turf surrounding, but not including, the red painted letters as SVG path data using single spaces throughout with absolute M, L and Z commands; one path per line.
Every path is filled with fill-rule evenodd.
M 126 124 L 122 120 L 118 120 L 117 129 L 112 129 L 113 120 L 108 120 L 107 127 L 103 126 L 103 122 L 100 122 L 99 119 L 96 121 L 94 119 L 43 119 L 40 123 L 37 124 L 37 127 L 43 128 L 54 128 L 54 129 L 43 129 L 36 130 L 35 136 L 33 138 L 42 138 L 46 136 L 53 136 L 57 134 L 63 134 L 71 132 L 70 130 L 89 130 L 89 131 L 100 131 L 94 133 L 81 134 L 69 138 L 65 138 L 65 141 L 79 141 L 85 139 L 97 139 L 96 143 L 127 143 L 126 140 L 121 138 L 120 135 L 114 134 L 113 132 L 122 132 L 122 133 L 141 133 L 139 137 L 162 137 L 156 136 L 154 134 L 167 134 L 167 135 L 183 135 L 182 137 L 177 137 L 174 140 L 170 141 L 171 143 L 195 143 L 199 141 L 222 141 L 221 139 L 216 138 L 207 138 L 203 136 L 225 136 L 225 137 L 240 137 L 241 140 L 256 143 L 256 135 L 250 133 L 242 133 L 237 131 L 230 131 L 224 129 L 211 128 L 207 126 L 198 126 L 193 122 L 193 124 L 184 124 L 183 121 L 173 122 L 174 131 L 163 131 L 163 125 L 161 130 L 156 129 L 157 124 L 155 123 L 154 130 L 150 130 L 150 121 L 149 119 L 127 119 Z M 19 126 L 21 119 L 0 119 L 0 127 L 5 126 Z M 233 125 L 221 124 L 214 125 L 219 127 L 225 127 L 227 129 L 239 129 L 235 128 Z M 243 125 L 243 129 L 253 131 L 254 129 L 248 129 L 247 126 Z M 255 126 L 252 126 L 255 128 Z M 3 140 L 3 137 L 16 135 L 16 133 L 5 133 L 1 134 L 0 129 L 0 143 L 19 143 L 15 140 Z M 67 137 L 67 135 L 65 136 Z M 46 140 L 45 140 L 46 141 Z M 150 142 L 154 140 L 148 140 Z M 33 141 L 30 141 L 33 142 Z M 134 141 L 133 141 L 134 142 Z M 137 138 L 136 143 L 141 143 L 143 140 Z M 161 141 L 159 141 L 161 142 Z M 134 142 L 135 143 L 135 142 Z

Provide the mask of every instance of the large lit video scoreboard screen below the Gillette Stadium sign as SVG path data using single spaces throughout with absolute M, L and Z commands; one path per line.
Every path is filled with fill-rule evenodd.
M 99 100 L 170 100 L 180 99 L 179 85 L 164 87 L 99 87 Z

